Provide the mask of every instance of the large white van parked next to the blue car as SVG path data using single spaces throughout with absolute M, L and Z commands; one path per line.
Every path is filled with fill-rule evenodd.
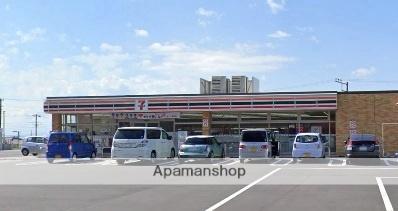
M 111 158 L 123 164 L 130 158 L 174 158 L 174 142 L 160 127 L 121 127 L 113 137 Z

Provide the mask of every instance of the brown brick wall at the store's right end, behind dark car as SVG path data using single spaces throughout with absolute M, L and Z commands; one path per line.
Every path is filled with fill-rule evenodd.
M 350 128 L 357 133 L 376 134 L 381 140 L 382 123 L 398 123 L 398 91 L 396 93 L 340 93 L 337 95 L 336 150 L 344 154 L 344 140 Z M 350 121 L 356 127 L 350 126 Z M 398 125 L 384 127 L 385 152 L 398 152 Z

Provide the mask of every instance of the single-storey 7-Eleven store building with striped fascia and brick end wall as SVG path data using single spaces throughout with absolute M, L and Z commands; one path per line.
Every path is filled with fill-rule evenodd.
M 47 97 L 53 131 L 86 132 L 103 147 L 118 127 L 159 126 L 177 135 L 238 137 L 249 128 L 278 131 L 280 140 L 298 132 L 321 132 L 332 154 L 344 153 L 353 133 L 376 134 L 385 154 L 398 152 L 398 91 L 273 92 Z

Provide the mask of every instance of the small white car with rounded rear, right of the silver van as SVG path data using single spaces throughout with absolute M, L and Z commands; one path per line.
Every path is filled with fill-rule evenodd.
M 325 157 L 325 142 L 320 133 L 299 133 L 293 142 L 292 157 Z

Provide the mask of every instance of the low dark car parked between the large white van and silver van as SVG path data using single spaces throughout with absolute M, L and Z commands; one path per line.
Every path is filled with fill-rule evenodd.
M 179 158 L 224 158 L 223 145 L 214 136 L 188 136 L 178 151 Z

